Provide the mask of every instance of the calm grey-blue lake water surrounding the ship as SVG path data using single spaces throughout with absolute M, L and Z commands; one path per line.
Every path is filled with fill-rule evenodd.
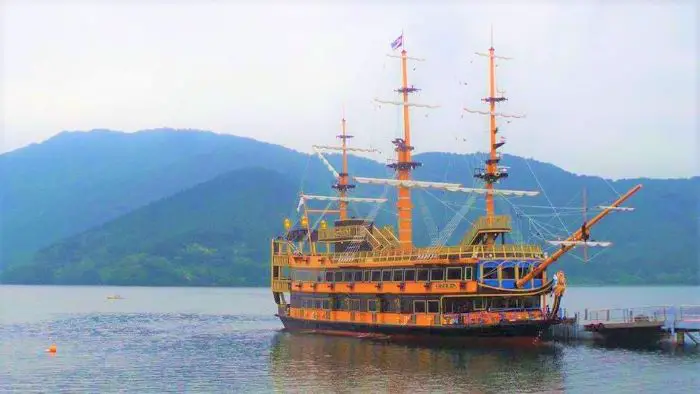
M 120 294 L 123 300 L 107 300 Z M 564 307 L 700 304 L 569 288 Z M 425 346 L 281 332 L 268 289 L 0 286 L 0 392 L 698 392 L 700 351 Z M 45 349 L 56 343 L 55 355 Z

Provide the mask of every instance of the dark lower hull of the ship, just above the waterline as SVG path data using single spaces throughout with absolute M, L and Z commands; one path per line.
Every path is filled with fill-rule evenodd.
M 351 322 L 304 320 L 289 316 L 278 316 L 289 331 L 310 331 L 329 334 L 380 334 L 389 336 L 438 336 L 438 337 L 541 337 L 543 332 L 556 322 L 533 320 L 517 323 L 502 323 L 489 326 L 396 326 Z

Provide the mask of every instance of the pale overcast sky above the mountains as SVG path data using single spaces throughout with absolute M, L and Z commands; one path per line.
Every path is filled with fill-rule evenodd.
M 291 4 L 290 4 L 291 3 Z M 353 146 L 384 161 L 401 132 L 404 34 L 416 152 L 488 148 L 496 83 L 524 114 L 504 153 L 612 179 L 700 175 L 694 1 L 0 0 L 0 152 L 64 130 L 173 127 L 310 152 L 345 114 Z M 331 4 L 331 5 L 329 5 Z M 424 4 L 424 5 L 421 5 Z M 505 164 L 505 163 L 504 163 Z

